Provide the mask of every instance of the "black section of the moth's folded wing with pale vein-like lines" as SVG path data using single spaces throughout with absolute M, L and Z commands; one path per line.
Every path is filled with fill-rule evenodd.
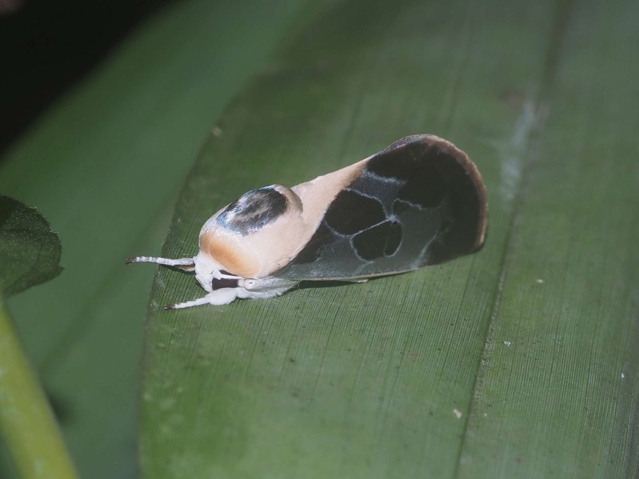
M 406 137 L 356 166 L 332 201 L 325 200 L 309 241 L 272 277 L 321 280 L 399 273 L 482 245 L 486 188 L 475 164 L 454 144 L 433 135 Z

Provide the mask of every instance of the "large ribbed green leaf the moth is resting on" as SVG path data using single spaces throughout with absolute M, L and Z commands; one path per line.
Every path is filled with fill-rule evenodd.
M 203 290 L 158 269 L 142 477 L 632 476 L 638 9 L 353 0 L 291 39 L 204 144 L 163 255 L 193 255 L 247 190 L 416 133 L 477 163 L 486 243 L 364 285 L 169 312 Z

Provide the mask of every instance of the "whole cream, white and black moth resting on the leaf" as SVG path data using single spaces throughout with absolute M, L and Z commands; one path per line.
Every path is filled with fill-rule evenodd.
M 292 188 L 243 194 L 204 223 L 195 257 L 127 264 L 195 272 L 207 294 L 166 309 L 270 298 L 301 281 L 365 282 L 473 252 L 484 242 L 487 209 L 468 155 L 415 135 Z

